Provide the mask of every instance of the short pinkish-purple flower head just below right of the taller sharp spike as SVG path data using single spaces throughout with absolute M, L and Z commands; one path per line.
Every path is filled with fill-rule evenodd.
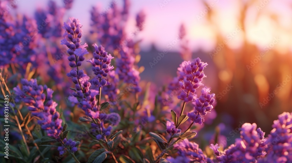
M 199 123 L 200 125 L 204 122 L 204 116 L 207 113 L 211 112 L 213 109 L 213 103 L 215 102 L 215 94 L 209 94 L 210 89 L 203 88 L 202 94 L 199 98 L 196 98 L 193 102 L 194 104 L 194 111 L 187 114 L 188 117 L 194 122 Z

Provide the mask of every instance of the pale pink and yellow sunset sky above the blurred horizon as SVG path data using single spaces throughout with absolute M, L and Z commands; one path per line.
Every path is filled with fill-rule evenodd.
M 96 1 L 77 1 L 73 3 L 73 8 L 69 10 L 67 17 L 76 17 L 84 24 L 84 32 L 89 29 L 90 10 L 92 6 L 99 6 L 103 11 L 110 5 L 111 0 Z M 194 0 L 140 0 L 131 1 L 131 18 L 128 22 L 128 33 L 135 26 L 135 15 L 140 10 L 144 10 L 147 18 L 144 31 L 140 32 L 138 38 L 143 38 L 141 47 L 147 50 L 152 43 L 159 50 L 167 49 L 169 42 L 177 38 L 178 28 L 184 23 L 187 28 L 187 37 L 189 45 L 193 51 L 203 49 L 204 51 L 212 51 L 216 45 L 216 33 L 221 33 L 226 38 L 230 47 L 237 48 L 242 43 L 243 32 L 240 30 L 238 15 L 242 8 L 242 1 L 233 0 L 206 0 L 208 8 L 215 12 L 213 23 L 206 21 L 206 12 L 208 8 L 202 1 Z M 34 13 L 37 7 L 44 7 L 47 0 L 20 0 L 18 1 L 18 10 L 28 15 Z M 58 1 L 61 6 L 62 2 Z M 123 5 L 123 1 L 118 0 L 118 6 Z M 274 48 L 280 52 L 291 50 L 291 27 L 292 27 L 292 3 L 291 0 L 258 0 L 248 9 L 247 13 L 247 39 L 264 48 L 273 40 L 279 40 Z M 77 11 L 79 12 L 72 12 Z M 208 11 L 209 12 L 209 11 Z M 260 15 L 258 16 L 258 13 Z M 272 18 L 278 17 L 278 22 Z M 290 21 L 289 21 L 290 20 Z M 239 30 L 238 30 L 239 29 Z M 233 33 L 235 35 L 230 35 Z M 232 38 L 230 37 L 232 36 Z M 178 50 L 179 44 L 175 45 L 171 50 Z

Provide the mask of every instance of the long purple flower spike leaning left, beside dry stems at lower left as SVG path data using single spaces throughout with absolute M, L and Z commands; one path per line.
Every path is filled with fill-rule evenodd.
M 22 89 L 19 86 L 13 88 L 16 101 L 24 102 L 32 115 L 38 117 L 38 123 L 43 130 L 47 131 L 48 136 L 59 138 L 62 131 L 62 119 L 56 111 L 58 105 L 52 100 L 53 90 L 46 85 L 38 85 L 36 79 L 21 79 Z M 44 93 L 46 90 L 47 95 Z

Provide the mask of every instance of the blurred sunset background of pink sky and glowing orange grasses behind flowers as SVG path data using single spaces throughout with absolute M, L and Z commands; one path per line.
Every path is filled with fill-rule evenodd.
M 14 0 L 16 10 L 29 16 L 48 1 Z M 62 6 L 63 1 L 56 1 Z M 165 86 L 184 60 L 199 57 L 207 62 L 204 84 L 216 94 L 215 123 L 233 128 L 257 123 L 268 133 L 273 120 L 292 111 L 292 1 L 291 0 L 141 0 L 129 1 L 126 33 L 139 40 L 145 70 L 142 81 Z M 64 15 L 78 18 L 84 36 L 90 37 L 95 6 L 107 12 L 123 1 L 74 1 Z M 11 5 L 13 6 L 13 5 Z M 143 10 L 143 31 L 135 18 Z

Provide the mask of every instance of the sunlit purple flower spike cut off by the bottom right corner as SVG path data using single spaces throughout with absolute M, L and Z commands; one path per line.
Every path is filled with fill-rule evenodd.
M 292 113 L 284 112 L 274 121 L 267 137 L 267 157 L 263 162 L 289 162 L 292 160 Z

